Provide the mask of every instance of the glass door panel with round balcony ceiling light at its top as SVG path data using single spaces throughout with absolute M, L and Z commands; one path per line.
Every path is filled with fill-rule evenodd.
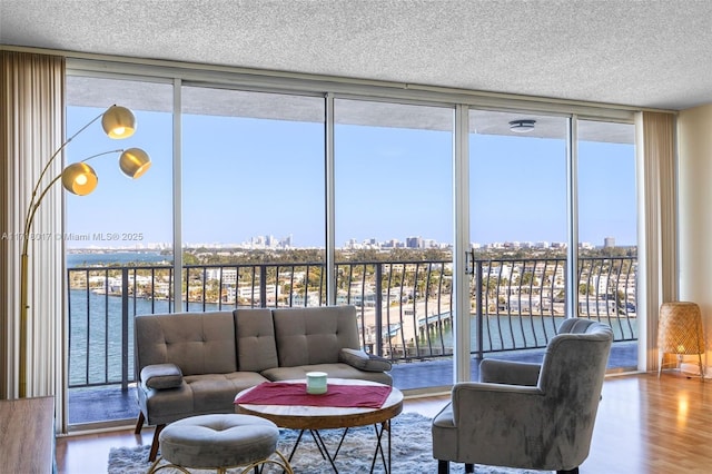
M 567 119 L 469 113 L 472 349 L 546 345 L 565 315 Z

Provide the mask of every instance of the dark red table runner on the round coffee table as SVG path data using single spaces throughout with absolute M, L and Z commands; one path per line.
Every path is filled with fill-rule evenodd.
M 322 395 L 307 393 L 305 383 L 263 382 L 235 403 L 253 405 L 307 405 L 340 408 L 380 408 L 390 394 L 387 385 L 328 384 Z

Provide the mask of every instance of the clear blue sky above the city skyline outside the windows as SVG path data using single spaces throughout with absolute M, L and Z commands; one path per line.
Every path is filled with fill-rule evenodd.
M 72 107 L 71 135 L 100 113 Z M 140 147 L 151 169 L 129 180 L 116 157 L 90 161 L 99 186 L 67 196 L 66 231 L 116 236 L 118 247 L 172 241 L 172 138 L 168 113 L 137 112 L 134 137 L 106 138 L 99 124 L 68 147 L 67 161 Z M 291 236 L 324 246 L 324 127 L 267 119 L 186 116 L 182 122 L 182 234 L 186 243 L 243 243 Z M 419 236 L 451 243 L 452 135 L 446 131 L 337 125 L 336 243 Z M 633 147 L 580 144 L 580 239 L 635 244 Z M 471 136 L 472 241 L 566 239 L 563 140 Z M 137 237 L 126 240 L 122 237 Z M 85 241 L 67 241 L 85 247 Z

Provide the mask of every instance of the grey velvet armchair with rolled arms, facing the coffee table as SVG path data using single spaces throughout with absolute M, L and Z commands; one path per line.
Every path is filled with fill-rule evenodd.
M 484 359 L 481 382 L 458 383 L 433 419 L 438 473 L 449 462 L 577 473 L 589 456 L 613 340 L 604 324 L 572 318 L 542 364 Z

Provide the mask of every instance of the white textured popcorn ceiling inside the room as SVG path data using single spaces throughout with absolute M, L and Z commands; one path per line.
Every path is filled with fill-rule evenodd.
M 0 0 L 0 43 L 685 109 L 708 0 Z

